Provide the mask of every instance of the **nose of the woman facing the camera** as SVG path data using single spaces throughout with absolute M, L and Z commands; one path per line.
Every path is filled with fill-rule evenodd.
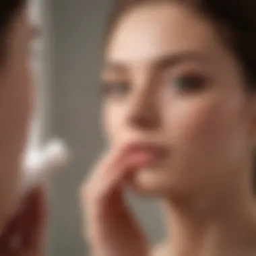
M 154 88 L 147 86 L 135 86 L 129 108 L 129 125 L 136 129 L 157 129 L 160 125 L 160 109 L 158 96 Z

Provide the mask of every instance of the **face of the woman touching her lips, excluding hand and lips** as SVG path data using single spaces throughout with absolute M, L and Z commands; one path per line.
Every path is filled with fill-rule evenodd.
M 110 146 L 127 139 L 166 150 L 138 166 L 136 189 L 191 193 L 243 179 L 255 108 L 238 61 L 210 22 L 170 3 L 129 11 L 106 46 L 103 79 Z

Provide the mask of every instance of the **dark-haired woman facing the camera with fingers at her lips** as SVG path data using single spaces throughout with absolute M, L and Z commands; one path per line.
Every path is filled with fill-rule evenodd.
M 146 256 L 124 187 L 162 200 L 153 255 L 256 255 L 256 2 L 117 1 L 105 42 L 109 150 L 82 189 L 96 256 Z

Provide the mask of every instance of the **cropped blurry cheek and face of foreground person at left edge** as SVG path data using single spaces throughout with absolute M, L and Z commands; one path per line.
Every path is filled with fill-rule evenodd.
M 6 30 L 5 59 L 0 67 L 0 225 L 18 199 L 20 157 L 32 108 L 30 36 L 28 15 L 21 11 Z

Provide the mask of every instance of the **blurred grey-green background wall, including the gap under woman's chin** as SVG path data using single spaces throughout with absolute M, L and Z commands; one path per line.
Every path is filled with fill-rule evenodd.
M 49 186 L 48 255 L 89 255 L 82 238 L 78 189 L 102 149 L 102 37 L 110 0 L 32 0 L 38 27 L 32 63 L 38 94 L 32 136 L 65 139 L 72 164 Z M 164 235 L 155 201 L 129 196 L 152 243 Z M 86 254 L 85 254 L 86 251 Z

